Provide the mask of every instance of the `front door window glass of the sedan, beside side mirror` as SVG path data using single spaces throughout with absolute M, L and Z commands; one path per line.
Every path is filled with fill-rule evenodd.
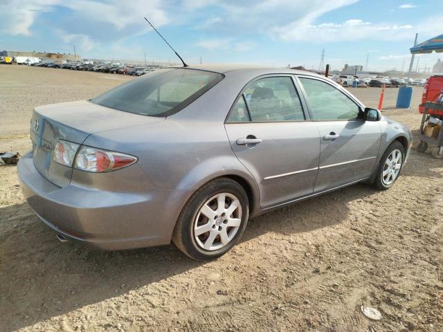
M 300 77 L 314 120 L 355 120 L 360 118 L 360 107 L 334 86 Z

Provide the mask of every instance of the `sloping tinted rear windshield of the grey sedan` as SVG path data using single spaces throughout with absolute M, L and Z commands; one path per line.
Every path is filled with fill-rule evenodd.
M 219 73 L 195 69 L 163 69 L 117 86 L 91 102 L 144 116 L 170 116 L 199 98 L 223 77 Z

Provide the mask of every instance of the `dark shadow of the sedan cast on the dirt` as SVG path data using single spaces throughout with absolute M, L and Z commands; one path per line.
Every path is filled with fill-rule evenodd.
M 267 232 L 296 241 L 298 233 L 341 223 L 350 212 L 347 203 L 370 200 L 375 193 L 368 185 L 353 185 L 258 216 L 248 223 L 242 247 L 248 250 L 248 241 Z M 30 326 L 144 286 L 156 287 L 174 275 L 205 279 L 192 270 L 224 264 L 239 250 L 210 263 L 193 261 L 173 245 L 102 252 L 60 243 L 26 203 L 0 208 L 0 215 L 1 331 Z

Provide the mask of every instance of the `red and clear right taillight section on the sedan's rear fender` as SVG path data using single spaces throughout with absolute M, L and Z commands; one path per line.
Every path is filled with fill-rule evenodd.
M 73 167 L 87 172 L 110 172 L 132 165 L 136 161 L 136 157 L 127 154 L 82 146 Z

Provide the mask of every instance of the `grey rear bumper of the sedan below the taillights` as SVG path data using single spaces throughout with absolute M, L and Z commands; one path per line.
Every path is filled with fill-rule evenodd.
M 170 243 L 175 221 L 191 194 L 154 186 L 145 192 L 98 190 L 72 182 L 57 187 L 39 174 L 32 154 L 21 158 L 17 172 L 24 197 L 39 219 L 68 240 L 103 250 Z

